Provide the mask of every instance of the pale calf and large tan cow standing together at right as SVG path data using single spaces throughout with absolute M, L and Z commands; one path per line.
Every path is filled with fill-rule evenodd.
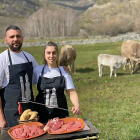
M 99 77 L 103 75 L 103 67 L 110 66 L 110 77 L 114 71 L 114 76 L 116 77 L 117 68 L 122 64 L 124 65 L 124 70 L 126 70 L 126 65 L 129 64 L 129 69 L 132 70 L 134 74 L 140 67 L 140 43 L 133 40 L 127 40 L 122 43 L 121 55 L 109 55 L 100 54 L 98 56 L 98 69 Z M 135 70 L 135 64 L 138 64 L 138 68 Z

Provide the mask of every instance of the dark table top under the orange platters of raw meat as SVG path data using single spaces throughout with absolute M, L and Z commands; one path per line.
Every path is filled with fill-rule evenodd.
M 85 138 L 87 136 L 89 137 L 97 136 L 97 134 L 100 133 L 86 118 L 84 118 L 83 121 L 87 124 L 88 127 L 90 127 L 90 130 L 61 134 L 61 135 L 52 135 L 52 134 L 45 133 L 44 135 L 41 135 L 39 137 L 32 138 L 32 140 L 71 140 L 71 139 Z M 1 130 L 1 140 L 13 140 L 8 134 L 9 129 L 10 127 L 3 128 Z

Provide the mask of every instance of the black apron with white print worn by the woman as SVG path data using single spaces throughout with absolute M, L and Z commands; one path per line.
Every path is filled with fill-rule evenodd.
M 37 84 L 39 94 L 36 97 L 36 102 L 68 109 L 67 100 L 64 94 L 65 78 L 62 76 L 60 69 L 59 71 L 61 76 L 46 78 L 43 77 L 44 68 L 45 65 Z M 36 111 L 38 111 L 39 121 L 42 123 L 48 122 L 49 119 L 53 119 L 55 117 L 65 118 L 69 116 L 68 111 L 49 108 L 43 105 L 36 105 Z

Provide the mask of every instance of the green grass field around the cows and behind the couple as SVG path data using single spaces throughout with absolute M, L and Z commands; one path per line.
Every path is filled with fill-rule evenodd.
M 117 69 L 118 77 L 110 78 L 110 68 L 98 76 L 97 56 L 100 53 L 120 55 L 122 42 L 94 45 L 76 45 L 76 74 L 72 78 L 79 95 L 82 115 L 100 132 L 100 140 L 140 139 L 140 71 Z M 61 47 L 61 46 L 60 46 Z M 0 48 L 0 52 L 6 48 Z M 37 62 L 43 64 L 43 47 L 29 47 Z M 34 86 L 36 96 L 36 86 Z M 72 104 L 67 96 L 69 109 Z M 70 116 L 73 116 L 70 114 Z

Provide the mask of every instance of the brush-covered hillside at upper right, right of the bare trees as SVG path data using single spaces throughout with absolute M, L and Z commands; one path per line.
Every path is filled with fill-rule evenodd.
M 88 34 L 140 33 L 140 0 L 99 0 L 81 16 L 81 28 Z

